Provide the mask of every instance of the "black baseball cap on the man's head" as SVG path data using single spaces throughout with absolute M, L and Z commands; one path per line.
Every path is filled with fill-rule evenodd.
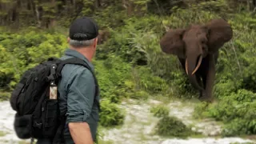
M 96 38 L 97 36 L 98 25 L 91 18 L 78 18 L 70 26 L 70 39 L 84 41 Z

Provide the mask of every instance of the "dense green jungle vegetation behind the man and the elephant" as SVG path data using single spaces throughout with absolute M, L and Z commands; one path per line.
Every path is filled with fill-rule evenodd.
M 93 17 L 104 33 L 94 58 L 101 87 L 101 126 L 119 126 L 123 98 L 197 98 L 178 58 L 163 54 L 169 28 L 225 18 L 234 37 L 220 50 L 214 103 L 201 102 L 195 118 L 224 122 L 224 136 L 256 134 L 256 16 L 254 1 L 239 0 L 0 0 L 0 98 L 21 74 L 67 48 L 74 18 Z

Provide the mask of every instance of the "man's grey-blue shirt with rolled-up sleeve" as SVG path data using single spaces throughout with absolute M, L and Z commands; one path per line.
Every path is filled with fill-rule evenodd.
M 77 57 L 86 61 L 90 68 L 94 66 L 76 50 L 66 50 L 61 59 Z M 68 128 L 69 122 L 87 122 L 93 139 L 99 121 L 98 106 L 94 103 L 94 78 L 90 70 L 84 66 L 66 64 L 62 69 L 62 80 L 58 83 L 59 106 L 61 114 L 66 113 L 66 126 L 64 138 L 66 144 L 73 144 L 74 141 Z M 99 95 L 96 97 L 99 100 Z

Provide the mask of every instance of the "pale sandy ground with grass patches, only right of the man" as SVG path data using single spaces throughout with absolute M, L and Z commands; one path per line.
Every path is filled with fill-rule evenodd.
M 252 142 L 242 138 L 214 138 L 214 135 L 220 133 L 221 126 L 210 119 L 194 122 L 192 118 L 194 104 L 184 104 L 182 102 L 170 102 L 167 105 L 170 107 L 170 115 L 180 118 L 187 125 L 194 124 L 193 130 L 202 132 L 206 138 L 161 138 L 153 134 L 154 126 L 159 119 L 150 114 L 150 106 L 158 104 L 161 105 L 161 102 L 155 100 L 142 102 L 141 104 L 136 104 L 132 100 L 122 102 L 121 107 L 126 110 L 124 125 L 118 129 L 105 130 L 103 132 L 105 134 L 104 140 L 112 141 L 114 144 L 231 144 L 234 142 Z

